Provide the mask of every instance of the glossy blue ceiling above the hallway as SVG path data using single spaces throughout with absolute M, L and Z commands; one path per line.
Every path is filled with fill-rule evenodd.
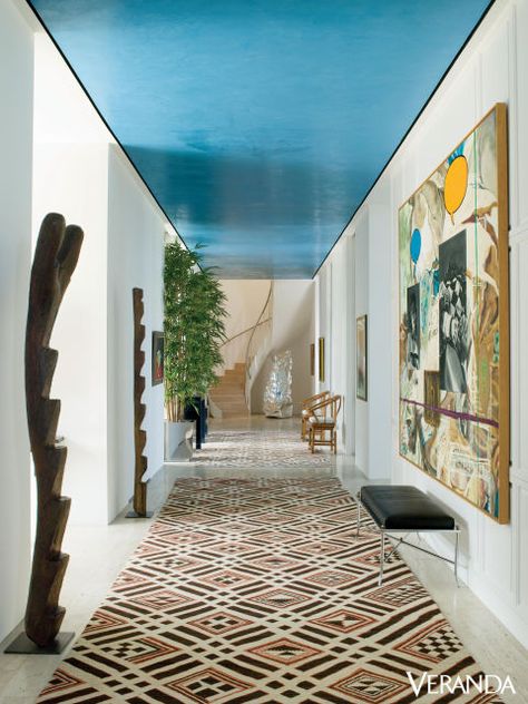
M 485 0 L 35 0 L 145 182 L 223 277 L 307 277 Z

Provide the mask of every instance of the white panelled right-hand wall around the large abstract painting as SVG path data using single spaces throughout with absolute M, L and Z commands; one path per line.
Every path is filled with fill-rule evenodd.
M 358 465 L 371 478 L 392 475 L 393 481 L 413 483 L 449 507 L 463 527 L 462 559 L 469 586 L 525 645 L 528 644 L 526 67 L 528 0 L 498 0 L 346 231 L 355 234 L 356 296 L 352 313 L 369 315 L 369 401 L 356 403 Z M 510 158 L 512 466 L 511 522 L 507 526 L 497 525 L 398 454 L 398 207 L 497 101 L 508 104 Z M 321 281 L 329 275 L 336 255 L 335 251 L 329 257 Z M 320 292 L 326 296 L 320 302 L 323 311 L 329 295 L 322 285 Z M 450 546 L 444 544 L 443 548 Z

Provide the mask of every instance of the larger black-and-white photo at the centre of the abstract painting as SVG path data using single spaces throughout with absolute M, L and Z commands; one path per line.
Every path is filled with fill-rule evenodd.
M 467 391 L 468 312 L 466 229 L 439 246 L 440 388 Z

